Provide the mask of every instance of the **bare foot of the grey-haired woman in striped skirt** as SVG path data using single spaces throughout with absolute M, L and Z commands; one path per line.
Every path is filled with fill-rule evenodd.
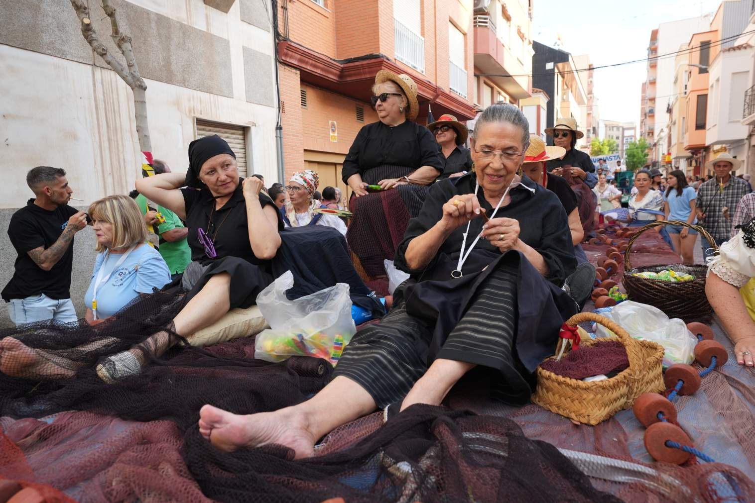
M 296 459 L 312 457 L 317 440 L 310 433 L 306 414 L 298 406 L 239 416 L 205 405 L 199 410 L 199 433 L 227 452 L 275 443 L 293 449 Z

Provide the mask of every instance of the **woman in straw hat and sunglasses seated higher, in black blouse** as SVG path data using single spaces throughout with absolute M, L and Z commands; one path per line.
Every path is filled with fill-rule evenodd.
M 417 84 L 408 75 L 381 70 L 372 92 L 380 121 L 359 130 L 341 175 L 353 191 L 347 241 L 367 274 L 376 276 L 385 273 L 383 259 L 393 259 L 409 217 L 419 214 L 443 161 L 433 134 L 414 122 Z M 370 194 L 368 186 L 383 192 Z

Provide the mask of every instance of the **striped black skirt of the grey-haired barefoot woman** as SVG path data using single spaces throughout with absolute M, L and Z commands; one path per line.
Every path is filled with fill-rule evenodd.
M 359 383 L 377 406 L 385 407 L 402 400 L 433 360 L 444 358 L 476 364 L 476 375 L 479 371 L 488 374 L 492 397 L 516 405 L 527 403 L 534 380 L 514 350 L 518 265 L 498 260 L 493 267 L 456 320 L 438 321 L 415 312 L 418 304 L 403 284 L 381 323 L 356 333 L 334 376 Z

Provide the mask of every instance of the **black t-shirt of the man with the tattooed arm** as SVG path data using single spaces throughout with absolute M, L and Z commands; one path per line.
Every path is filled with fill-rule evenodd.
M 71 298 L 73 240 L 49 271 L 40 268 L 26 252 L 39 247 L 45 247 L 45 250 L 51 247 L 63 234 L 68 219 L 79 210 L 66 204 L 50 211 L 37 206 L 34 201 L 35 199 L 29 199 L 26 207 L 11 216 L 11 224 L 8 225 L 8 236 L 18 256 L 13 278 L 2 290 L 5 302 L 40 293 L 56 300 Z

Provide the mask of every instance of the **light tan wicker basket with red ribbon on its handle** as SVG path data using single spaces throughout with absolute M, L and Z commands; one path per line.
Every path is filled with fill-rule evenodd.
M 633 405 L 640 394 L 664 391 L 661 361 L 663 346 L 646 340 L 633 339 L 626 330 L 607 317 L 593 313 L 578 313 L 566 324 L 576 327 L 583 321 L 595 321 L 618 336 L 627 350 L 629 367 L 616 376 L 602 381 L 584 382 L 559 376 L 538 367 L 538 388 L 532 401 L 550 412 L 574 419 L 585 425 L 597 425 Z M 587 339 L 582 345 L 600 344 L 613 337 Z

